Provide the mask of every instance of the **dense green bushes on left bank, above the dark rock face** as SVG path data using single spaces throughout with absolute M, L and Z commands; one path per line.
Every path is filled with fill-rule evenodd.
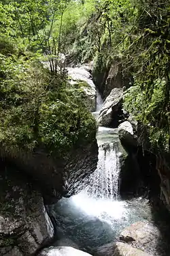
M 7 152 L 41 146 L 56 154 L 95 139 L 95 119 L 76 87 L 32 61 L 1 55 L 1 67 L 0 143 Z

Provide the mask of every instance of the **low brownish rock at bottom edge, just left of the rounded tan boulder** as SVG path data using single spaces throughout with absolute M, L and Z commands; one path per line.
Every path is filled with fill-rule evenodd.
M 95 256 L 153 256 L 145 253 L 129 244 L 115 242 L 105 244 L 98 248 Z

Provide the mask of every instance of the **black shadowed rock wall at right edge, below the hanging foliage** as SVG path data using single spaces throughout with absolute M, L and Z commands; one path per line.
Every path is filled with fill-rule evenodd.
M 137 143 L 139 165 L 144 183 L 150 190 L 149 195 L 154 197 L 154 201 L 164 203 L 170 212 L 169 152 L 156 154 L 150 145 L 148 128 L 141 123 L 137 125 Z

